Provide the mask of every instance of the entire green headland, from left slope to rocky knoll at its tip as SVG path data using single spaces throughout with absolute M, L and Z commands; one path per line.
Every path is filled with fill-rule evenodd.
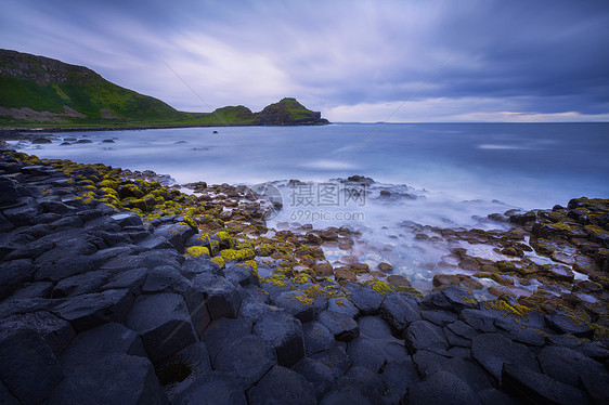
M 0 50 L 0 127 L 153 127 L 323 125 L 295 99 L 260 113 L 230 106 L 183 113 L 114 84 L 95 71 L 49 57 Z

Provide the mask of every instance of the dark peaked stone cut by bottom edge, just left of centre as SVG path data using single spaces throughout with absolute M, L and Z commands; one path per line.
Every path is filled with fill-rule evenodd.
M 316 404 L 313 386 L 298 373 L 274 366 L 247 392 L 249 405 L 256 404 Z

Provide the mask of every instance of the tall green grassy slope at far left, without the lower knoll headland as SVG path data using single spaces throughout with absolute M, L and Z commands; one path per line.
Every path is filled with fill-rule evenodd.
M 3 121 L 27 123 L 127 123 L 192 120 L 164 102 L 114 84 L 91 69 L 14 51 L 0 50 L 0 107 L 49 112 Z M 67 108 L 66 108 L 67 107 Z M 77 112 L 66 114 L 66 112 Z

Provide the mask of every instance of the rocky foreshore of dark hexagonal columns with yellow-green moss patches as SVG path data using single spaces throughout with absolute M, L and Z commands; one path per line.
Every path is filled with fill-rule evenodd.
M 505 233 L 417 230 L 513 258 L 454 250 L 423 296 L 328 263 L 320 246 L 349 246 L 348 228 L 269 232 L 245 187 L 187 196 L 154 173 L 0 154 L 0 402 L 609 401 L 607 200 L 491 219 Z M 484 279 L 497 299 L 472 298 Z

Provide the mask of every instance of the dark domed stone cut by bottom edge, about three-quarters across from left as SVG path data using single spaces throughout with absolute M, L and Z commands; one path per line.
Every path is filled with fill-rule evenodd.
M 409 388 L 405 404 L 480 404 L 474 390 L 458 377 L 437 371 Z

